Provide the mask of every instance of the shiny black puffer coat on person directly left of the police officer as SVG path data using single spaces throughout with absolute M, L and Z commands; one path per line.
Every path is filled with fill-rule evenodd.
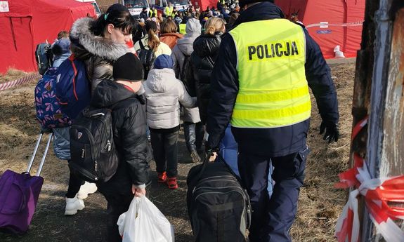
M 214 62 L 219 53 L 221 34 L 214 36 L 202 34 L 193 43 L 194 52 L 191 55 L 190 82 L 195 83 L 198 107 L 202 123 L 207 120 L 207 106 L 209 105 L 210 79 Z

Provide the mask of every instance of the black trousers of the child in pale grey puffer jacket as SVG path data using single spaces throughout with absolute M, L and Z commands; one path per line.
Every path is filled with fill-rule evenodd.
M 159 133 L 150 130 L 157 173 L 167 171 L 168 177 L 177 176 L 178 134 L 179 130 L 170 133 Z

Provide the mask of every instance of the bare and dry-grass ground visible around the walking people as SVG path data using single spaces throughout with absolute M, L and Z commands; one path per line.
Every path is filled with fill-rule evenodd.
M 334 189 L 333 184 L 348 163 L 355 65 L 332 64 L 330 67 L 339 98 L 341 137 L 337 144 L 328 145 L 322 141 L 318 135 L 320 115 L 313 99 L 311 130 L 308 135 L 311 154 L 308 157 L 305 185 L 299 198 L 297 219 L 291 231 L 296 242 L 336 241 L 333 238 L 334 226 L 345 203 L 345 192 Z M 0 76 L 0 83 L 9 78 Z M 0 92 L 0 174 L 6 169 L 22 172 L 30 159 L 39 133 L 39 126 L 34 119 L 33 94 L 34 83 Z M 166 186 L 154 182 L 150 191 L 155 205 L 174 224 L 177 242 L 193 241 L 185 204 L 186 175 L 194 166 L 189 161 L 190 157 L 181 136 L 179 189 L 170 191 Z M 68 181 L 66 161 L 57 159 L 50 149 L 41 175 L 45 182 L 30 231 L 23 236 L 0 233 L 0 241 L 105 241 L 107 217 L 103 196 L 99 193 L 91 194 L 84 201 L 84 210 L 75 216 L 66 217 L 63 215 Z M 156 177 L 156 173 L 152 173 L 153 181 Z

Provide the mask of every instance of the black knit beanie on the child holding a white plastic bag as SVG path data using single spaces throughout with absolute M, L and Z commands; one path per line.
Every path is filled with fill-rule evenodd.
M 143 79 L 143 65 L 133 53 L 122 55 L 114 64 L 112 70 L 114 80 L 141 81 Z

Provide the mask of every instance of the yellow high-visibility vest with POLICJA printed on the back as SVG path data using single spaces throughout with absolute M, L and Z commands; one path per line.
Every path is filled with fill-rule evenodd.
M 239 79 L 231 125 L 278 128 L 309 119 L 303 29 L 275 19 L 245 22 L 230 34 L 237 49 Z

